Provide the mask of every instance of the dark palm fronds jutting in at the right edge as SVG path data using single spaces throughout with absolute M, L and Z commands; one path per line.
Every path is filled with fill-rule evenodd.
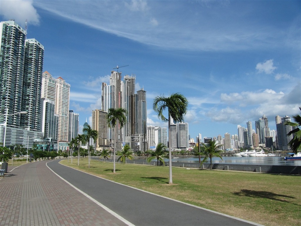
M 300 111 L 301 111 L 301 107 L 299 107 Z M 300 115 L 294 115 L 293 116 L 295 123 L 293 122 L 286 122 L 286 125 L 290 125 L 293 127 L 296 127 L 295 129 L 293 129 L 292 131 L 290 131 L 289 133 L 287 133 L 287 136 L 290 136 L 293 134 L 293 139 L 290 140 L 290 142 L 288 143 L 292 149 L 292 151 L 297 154 L 298 151 L 301 150 L 301 130 L 300 130 L 300 126 L 301 126 L 301 116 Z

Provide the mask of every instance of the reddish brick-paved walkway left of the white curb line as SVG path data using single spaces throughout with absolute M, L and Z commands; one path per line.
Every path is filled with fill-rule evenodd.
M 127 225 L 57 177 L 47 162 L 9 166 L 0 177 L 1 226 Z

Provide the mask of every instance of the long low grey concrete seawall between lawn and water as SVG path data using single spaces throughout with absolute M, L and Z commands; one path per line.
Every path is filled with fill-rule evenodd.
M 99 157 L 91 157 L 93 160 L 104 161 Z M 106 162 L 113 162 L 113 159 L 106 159 Z M 117 159 L 116 159 L 117 162 Z M 157 165 L 157 161 L 148 163 L 146 160 L 126 160 L 126 163 L 142 164 L 142 165 Z M 168 166 L 169 162 L 165 162 L 165 166 Z M 160 162 L 159 162 L 160 165 Z M 161 163 L 161 165 L 163 165 Z M 200 163 L 195 162 L 172 162 L 174 167 L 183 168 L 201 168 L 210 169 L 210 163 L 204 163 L 200 166 Z M 276 174 L 299 174 L 301 175 L 301 166 L 285 166 L 285 165 L 245 165 L 245 164 L 227 164 L 227 163 L 214 163 L 212 169 L 219 170 L 235 170 L 235 171 L 247 171 L 258 173 L 276 173 Z

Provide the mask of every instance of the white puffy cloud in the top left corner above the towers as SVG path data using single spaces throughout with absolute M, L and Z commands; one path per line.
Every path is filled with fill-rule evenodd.
M 33 7 L 33 1 L 2 0 L 0 14 L 5 20 L 15 20 L 22 26 L 26 19 L 28 24 L 39 25 L 40 16 Z

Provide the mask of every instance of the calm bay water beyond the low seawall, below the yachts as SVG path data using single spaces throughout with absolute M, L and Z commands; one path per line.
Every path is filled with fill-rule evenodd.
M 285 161 L 284 157 L 279 156 L 265 156 L 265 157 L 222 157 L 222 159 L 218 157 L 212 158 L 212 163 L 231 163 L 231 164 L 249 164 L 249 165 L 295 165 L 301 166 L 300 160 L 294 161 Z M 203 158 L 201 158 L 201 161 Z M 157 161 L 157 160 L 156 160 Z M 168 162 L 169 159 L 164 159 L 164 161 Z M 179 157 L 176 159 L 172 159 L 172 162 L 199 162 L 198 157 Z M 210 163 L 210 159 L 206 162 Z

